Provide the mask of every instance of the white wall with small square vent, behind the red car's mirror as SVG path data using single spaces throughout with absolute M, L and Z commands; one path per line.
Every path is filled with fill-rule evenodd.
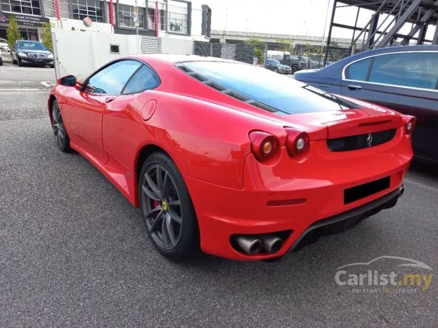
M 78 80 L 112 59 L 141 53 L 141 36 L 110 33 L 84 33 L 52 29 L 56 77 L 73 74 Z M 110 44 L 119 45 L 120 53 L 110 53 Z

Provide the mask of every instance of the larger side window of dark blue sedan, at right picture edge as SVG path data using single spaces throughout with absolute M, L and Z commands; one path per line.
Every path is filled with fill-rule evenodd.
M 437 52 L 404 52 L 375 57 L 370 82 L 435 89 Z

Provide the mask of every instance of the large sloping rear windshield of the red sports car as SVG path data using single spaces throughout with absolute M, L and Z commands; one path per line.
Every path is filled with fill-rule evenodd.
M 360 108 L 317 88 L 265 68 L 222 62 L 183 65 L 203 77 L 287 114 Z

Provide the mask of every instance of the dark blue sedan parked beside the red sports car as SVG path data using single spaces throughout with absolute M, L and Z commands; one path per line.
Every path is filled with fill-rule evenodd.
M 328 93 L 416 116 L 416 158 L 438 163 L 438 45 L 377 48 L 294 77 Z

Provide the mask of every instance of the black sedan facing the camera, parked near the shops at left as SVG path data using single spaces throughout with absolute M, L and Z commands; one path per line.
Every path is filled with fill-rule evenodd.
M 38 66 L 53 65 L 53 54 L 41 42 L 37 41 L 16 41 L 11 48 L 12 63 L 22 66 L 32 64 Z

